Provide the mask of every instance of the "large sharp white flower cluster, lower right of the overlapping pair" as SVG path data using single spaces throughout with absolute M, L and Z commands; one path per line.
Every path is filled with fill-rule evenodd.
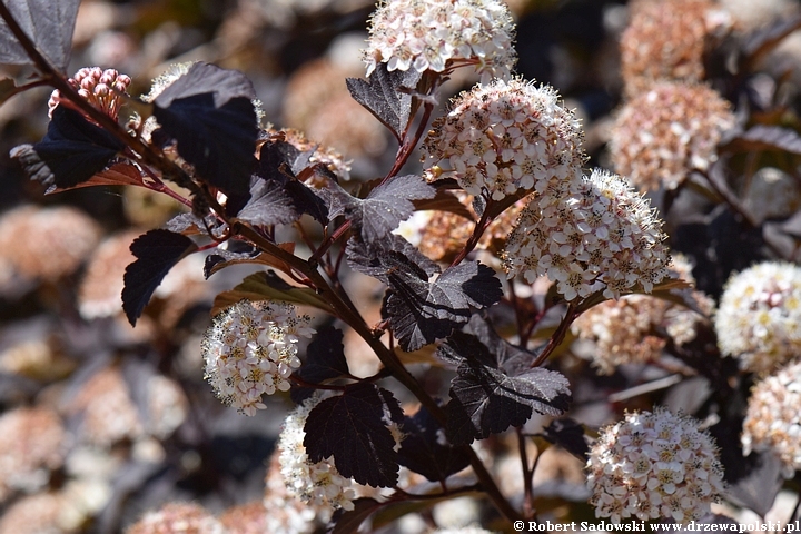
M 564 187 L 533 195 L 506 241 L 510 277 L 547 276 L 573 300 L 602 288 L 606 298 L 637 285 L 650 293 L 668 276 L 661 220 L 624 178 L 595 169 L 575 191 L 552 184 Z

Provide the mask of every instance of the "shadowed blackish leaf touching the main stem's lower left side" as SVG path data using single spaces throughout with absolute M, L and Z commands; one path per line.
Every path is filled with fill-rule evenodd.
M 469 465 L 469 456 L 445 442 L 441 435 L 444 431 L 425 407 L 405 418 L 403 431 L 406 437 L 398 451 L 400 465 L 429 481 L 444 481 Z

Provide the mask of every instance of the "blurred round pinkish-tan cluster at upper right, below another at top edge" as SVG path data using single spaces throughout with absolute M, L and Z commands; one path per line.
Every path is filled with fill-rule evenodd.
M 716 146 L 733 127 L 731 105 L 713 89 L 659 83 L 620 110 L 612 162 L 641 189 L 675 189 L 693 169 L 706 170 L 718 159 Z

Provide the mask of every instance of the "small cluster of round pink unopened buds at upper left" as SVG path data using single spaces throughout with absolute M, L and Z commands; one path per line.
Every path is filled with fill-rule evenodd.
M 115 69 L 102 70 L 100 67 L 83 67 L 67 80 L 78 95 L 95 108 L 117 120 L 119 110 L 122 106 L 122 95 L 128 95 L 128 87 L 131 79 L 127 75 L 120 75 Z M 56 89 L 50 95 L 48 101 L 48 116 L 52 118 L 52 112 L 60 103 L 68 101 L 61 98 L 61 93 Z M 68 103 L 72 107 L 71 103 Z

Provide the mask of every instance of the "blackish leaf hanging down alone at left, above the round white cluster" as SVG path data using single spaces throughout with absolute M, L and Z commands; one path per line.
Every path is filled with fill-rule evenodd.
M 167 273 L 187 255 L 198 249 L 195 241 L 169 230 L 150 230 L 131 243 L 137 258 L 126 268 L 122 309 L 136 325 L 154 291 Z

